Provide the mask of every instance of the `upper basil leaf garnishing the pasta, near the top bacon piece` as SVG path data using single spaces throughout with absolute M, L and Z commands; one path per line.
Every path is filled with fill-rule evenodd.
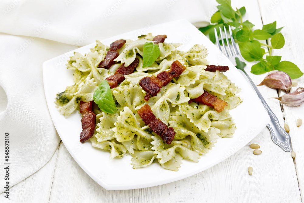
M 149 67 L 159 57 L 161 51 L 157 44 L 146 42 L 143 45 L 143 68 Z

